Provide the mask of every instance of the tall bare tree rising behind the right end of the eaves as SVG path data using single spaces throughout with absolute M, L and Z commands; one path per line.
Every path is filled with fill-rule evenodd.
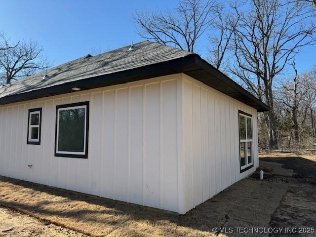
M 234 9 L 239 21 L 233 37 L 236 63 L 230 72 L 270 106 L 265 120 L 269 147 L 275 149 L 273 82 L 302 47 L 315 43 L 315 11 L 282 0 L 251 0 L 248 10 Z

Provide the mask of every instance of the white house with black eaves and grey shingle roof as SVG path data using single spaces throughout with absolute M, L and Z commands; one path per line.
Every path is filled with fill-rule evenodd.
M 0 175 L 186 213 L 255 171 L 269 107 L 143 41 L 0 88 Z

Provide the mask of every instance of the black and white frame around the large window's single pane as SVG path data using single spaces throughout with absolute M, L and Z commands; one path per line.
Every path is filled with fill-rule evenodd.
M 75 106 L 86 106 L 86 121 L 85 121 L 85 154 L 83 155 L 76 155 L 76 154 L 60 154 L 57 153 L 57 119 L 58 119 L 58 109 L 61 108 L 69 108 Z M 65 104 L 65 105 L 57 105 L 56 106 L 56 121 L 55 121 L 55 157 L 67 157 L 67 158 L 88 158 L 88 146 L 89 146 L 89 101 L 73 103 L 73 104 Z

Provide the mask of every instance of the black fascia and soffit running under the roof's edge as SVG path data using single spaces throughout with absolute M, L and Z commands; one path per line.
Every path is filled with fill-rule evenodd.
M 269 106 L 257 99 L 251 93 L 238 85 L 235 81 L 221 73 L 205 60 L 201 59 L 197 54 L 190 54 L 186 57 L 161 63 L 138 67 L 108 75 L 66 82 L 60 85 L 48 86 L 28 92 L 17 91 L 18 94 L 0 98 L 0 105 L 72 93 L 75 92 L 72 90 L 73 87 L 79 87 L 81 90 L 87 90 L 176 73 L 185 73 L 205 83 L 206 85 L 209 85 L 214 89 L 219 90 L 222 93 L 227 94 L 228 96 L 255 108 L 258 112 L 269 111 Z

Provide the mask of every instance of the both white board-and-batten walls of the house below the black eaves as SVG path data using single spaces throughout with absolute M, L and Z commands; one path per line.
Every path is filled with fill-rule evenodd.
M 0 175 L 186 213 L 259 165 L 257 109 L 187 74 L 3 102 Z

